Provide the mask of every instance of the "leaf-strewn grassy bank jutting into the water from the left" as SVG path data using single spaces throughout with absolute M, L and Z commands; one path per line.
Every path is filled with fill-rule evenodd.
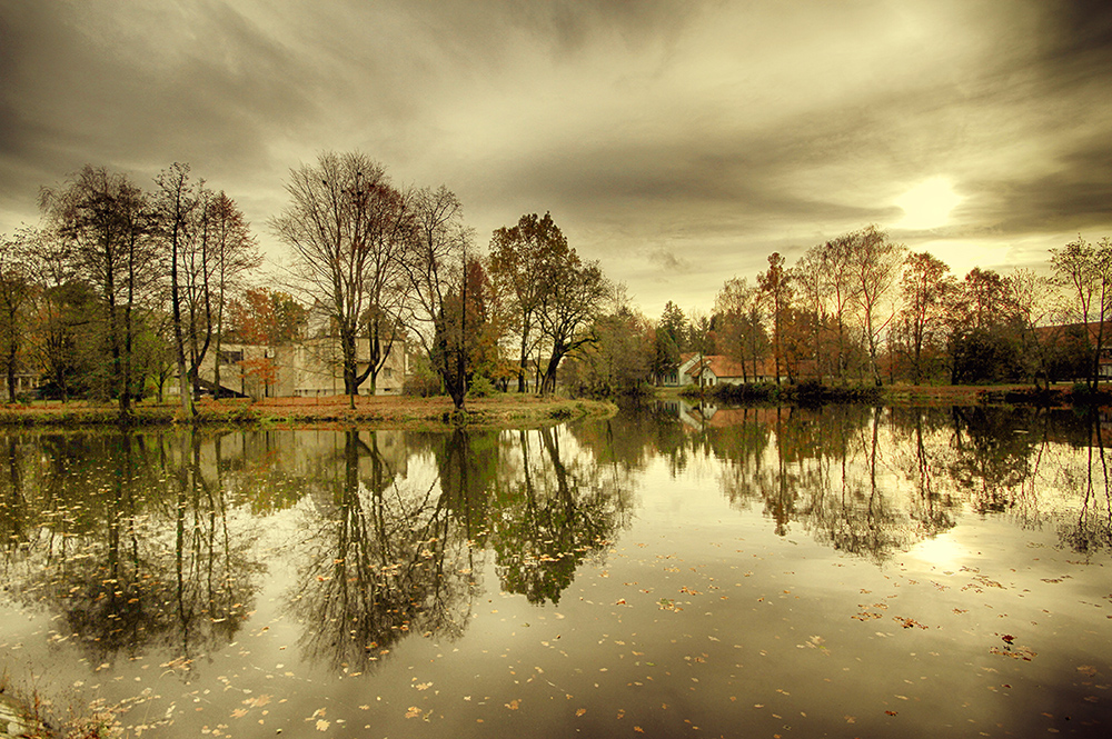
M 380 428 L 497 428 L 543 426 L 583 417 L 605 417 L 617 411 L 613 403 L 598 400 L 567 400 L 507 393 L 468 400 L 457 412 L 448 398 L 376 397 L 356 398 L 355 408 L 346 396 L 328 398 L 267 398 L 261 401 L 203 400 L 197 406 L 195 422 L 201 425 L 268 425 L 300 427 L 368 423 Z M 115 405 L 87 401 L 39 401 L 0 408 L 4 426 L 97 426 L 116 425 Z M 133 409 L 137 426 L 168 426 L 187 422 L 177 403 L 140 402 Z

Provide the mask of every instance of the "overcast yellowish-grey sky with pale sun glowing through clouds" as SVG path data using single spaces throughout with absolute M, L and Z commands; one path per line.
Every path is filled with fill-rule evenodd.
M 1112 236 L 1104 0 L 0 0 L 0 233 L 86 163 L 173 161 L 267 252 L 358 149 L 476 241 L 550 211 L 646 314 L 877 223 L 959 276 Z M 911 194 L 909 194 L 911 193 Z

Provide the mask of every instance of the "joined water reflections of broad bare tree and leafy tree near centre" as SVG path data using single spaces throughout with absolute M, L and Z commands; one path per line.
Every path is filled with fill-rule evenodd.
M 409 453 L 431 457 L 424 477 L 379 451 L 389 433 L 346 431 L 305 513 L 290 611 L 306 656 L 335 670 L 365 671 L 409 635 L 460 636 L 487 547 L 507 591 L 557 602 L 627 511 L 589 456 L 562 455 L 557 429 L 409 433 Z

